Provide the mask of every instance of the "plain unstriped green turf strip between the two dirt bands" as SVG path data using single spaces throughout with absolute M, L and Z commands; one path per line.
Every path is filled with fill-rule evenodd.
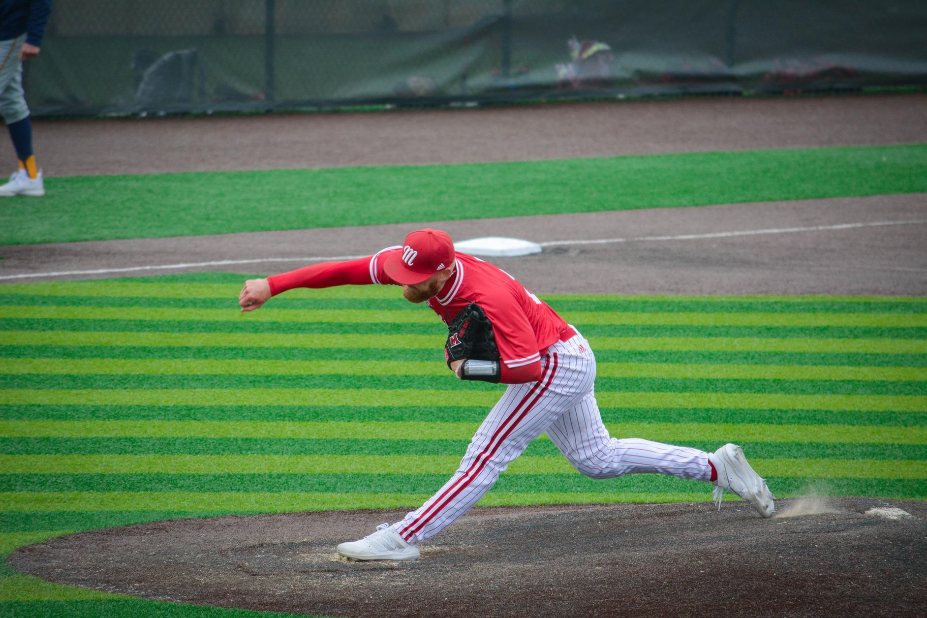
M 668 179 L 668 180 L 667 180 Z M 79 176 L 0 208 L 0 245 L 927 191 L 927 145 Z

